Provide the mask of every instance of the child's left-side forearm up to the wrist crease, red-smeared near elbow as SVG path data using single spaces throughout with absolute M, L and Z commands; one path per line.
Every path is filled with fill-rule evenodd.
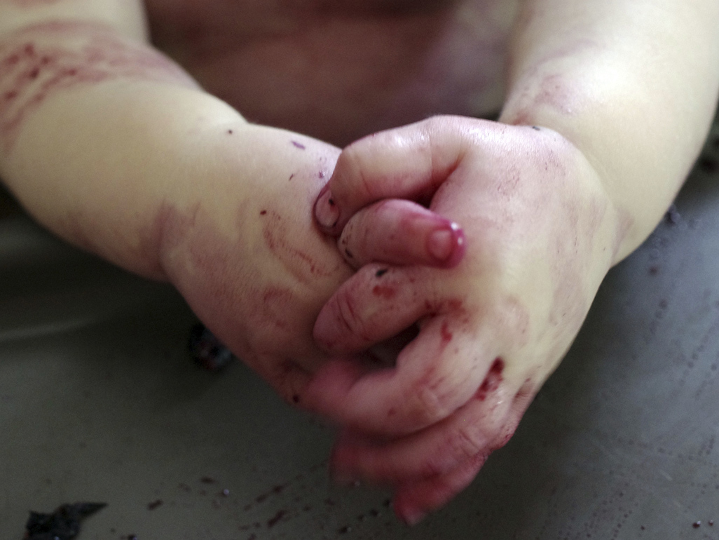
M 86 2 L 100 10 L 98 4 Z M 160 130 L 166 139 L 180 137 L 182 127 L 168 119 L 196 105 L 200 92 L 137 38 L 142 19 L 132 32 L 111 13 L 83 20 L 74 11 L 19 9 L 15 22 L 22 24 L 0 36 L 0 176 L 55 233 L 152 274 L 156 265 L 139 260 L 133 244 L 163 186 L 147 184 L 152 171 L 143 169 L 157 163 Z

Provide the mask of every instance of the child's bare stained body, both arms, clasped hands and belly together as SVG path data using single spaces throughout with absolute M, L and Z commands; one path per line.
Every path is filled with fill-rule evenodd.
M 415 523 L 508 441 L 677 193 L 719 3 L 193 5 L 146 6 L 183 71 L 139 1 L 0 0 L 0 176 L 58 235 L 178 287 L 342 428 L 339 480 L 389 485 Z M 452 116 L 412 123 L 433 112 Z M 395 366 L 361 361 L 413 326 Z

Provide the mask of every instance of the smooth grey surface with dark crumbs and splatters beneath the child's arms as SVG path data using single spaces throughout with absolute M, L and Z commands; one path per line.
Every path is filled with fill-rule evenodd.
M 715 169 L 610 272 L 510 444 L 412 529 L 385 493 L 331 486 L 331 432 L 244 366 L 196 369 L 171 289 L 5 217 L 0 539 L 75 500 L 109 503 L 80 540 L 719 539 Z

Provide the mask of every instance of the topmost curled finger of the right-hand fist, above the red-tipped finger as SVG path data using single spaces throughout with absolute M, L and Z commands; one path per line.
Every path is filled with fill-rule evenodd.
M 357 210 L 381 199 L 429 202 L 462 158 L 464 125 L 457 117 L 434 117 L 349 145 L 315 203 L 320 227 L 339 235 Z

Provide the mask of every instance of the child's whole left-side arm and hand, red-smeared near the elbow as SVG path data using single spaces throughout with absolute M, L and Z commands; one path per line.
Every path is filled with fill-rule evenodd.
M 311 217 L 338 154 L 202 91 L 147 45 L 139 1 L 0 1 L 6 186 L 63 238 L 172 282 L 288 399 L 350 274 Z

